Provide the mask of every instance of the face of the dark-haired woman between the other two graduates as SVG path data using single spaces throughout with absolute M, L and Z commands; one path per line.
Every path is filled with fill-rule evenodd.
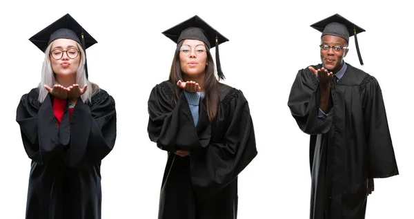
M 204 74 L 207 65 L 207 50 L 204 42 L 197 39 L 186 39 L 179 51 L 181 71 L 197 77 Z

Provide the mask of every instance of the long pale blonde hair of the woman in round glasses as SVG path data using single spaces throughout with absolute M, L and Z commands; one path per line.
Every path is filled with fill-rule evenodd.
M 93 84 L 89 82 L 85 75 L 85 52 L 83 51 L 80 44 L 76 43 L 77 47 L 80 51 L 81 60 L 79 62 L 79 67 L 76 71 L 76 82 L 75 84 L 79 84 L 80 87 L 83 88 L 85 84 L 88 85 L 88 89 L 86 92 L 81 95 L 82 101 L 85 103 L 86 101 L 90 102 L 90 98 L 94 93 L 99 91 L 99 86 L 97 84 Z M 57 84 L 57 80 L 55 78 L 55 73 L 52 70 L 52 64 L 50 62 L 50 49 L 52 48 L 52 44 L 49 44 L 48 48 L 46 48 L 45 52 L 45 60 L 43 61 L 43 66 L 41 68 L 41 81 L 39 83 L 39 102 L 43 102 L 48 96 L 48 91 L 43 87 L 43 85 L 48 85 L 50 88 Z

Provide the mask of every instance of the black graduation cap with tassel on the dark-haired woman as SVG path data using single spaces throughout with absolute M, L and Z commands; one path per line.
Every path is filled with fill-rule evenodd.
M 179 44 L 179 42 L 184 39 L 197 39 L 203 41 L 209 49 L 215 47 L 217 75 L 219 76 L 219 79 L 225 78 L 221 71 L 219 44 L 228 41 L 228 39 L 208 25 L 206 21 L 203 21 L 200 17 L 195 15 L 194 17 L 179 23 L 177 26 L 162 32 L 162 34 L 170 38 L 176 44 Z

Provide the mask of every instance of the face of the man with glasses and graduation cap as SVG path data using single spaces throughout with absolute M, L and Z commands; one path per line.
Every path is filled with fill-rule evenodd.
M 332 46 L 346 46 L 346 40 L 342 37 L 337 37 L 333 35 L 324 35 L 322 37 L 322 45 L 331 46 L 331 48 L 324 49 L 321 48 L 321 60 L 324 63 L 326 69 L 337 73 L 342 68 L 342 60 L 348 53 L 348 48 L 342 48 L 340 50 L 335 50 Z M 322 46 L 323 47 L 323 46 Z

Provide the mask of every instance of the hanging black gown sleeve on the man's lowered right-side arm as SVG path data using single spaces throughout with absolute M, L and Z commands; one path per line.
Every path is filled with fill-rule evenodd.
M 368 145 L 368 177 L 388 178 L 398 175 L 384 100 L 377 79 L 367 75 L 362 82 L 362 92 L 364 92 L 364 124 Z

